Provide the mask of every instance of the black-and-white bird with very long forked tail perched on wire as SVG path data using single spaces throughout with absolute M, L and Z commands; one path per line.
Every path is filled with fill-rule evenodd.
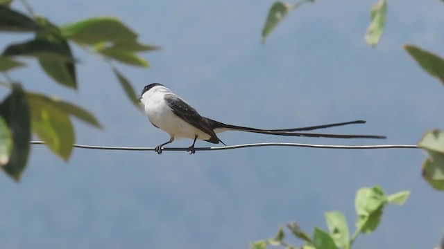
M 375 138 L 384 139 L 386 136 L 379 135 L 341 135 L 326 133 L 303 133 L 296 131 L 310 131 L 329 127 L 338 127 L 347 124 L 362 124 L 365 120 L 355 120 L 334 124 L 322 124 L 312 127 L 300 127 L 291 129 L 257 129 L 252 127 L 241 127 L 233 124 L 225 124 L 210 118 L 201 116 L 196 109 L 185 102 L 178 95 L 160 83 L 148 84 L 142 90 L 139 97 L 142 109 L 144 109 L 148 120 L 154 127 L 169 133 L 169 140 L 157 145 L 155 151 L 162 154 L 164 145 L 173 142 L 175 138 L 191 138 L 193 144 L 188 147 L 189 154 L 196 153 L 196 140 L 205 140 L 214 144 L 223 142 L 216 134 L 223 131 L 246 131 L 279 136 L 303 136 L 316 138 Z M 226 145 L 225 145 L 226 146 Z

